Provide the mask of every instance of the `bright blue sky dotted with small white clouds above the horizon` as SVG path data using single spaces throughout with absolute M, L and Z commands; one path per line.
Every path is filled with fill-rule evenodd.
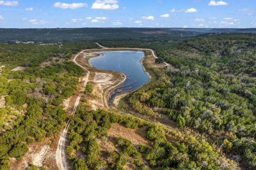
M 0 0 L 0 28 L 255 28 L 255 0 Z

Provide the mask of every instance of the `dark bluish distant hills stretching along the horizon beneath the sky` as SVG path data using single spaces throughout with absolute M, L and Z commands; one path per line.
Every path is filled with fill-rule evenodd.
M 211 28 L 55 28 L 55 29 L 0 29 L 1 43 L 59 42 L 69 40 L 127 39 L 143 37 L 191 37 L 204 33 L 256 33 L 251 29 Z

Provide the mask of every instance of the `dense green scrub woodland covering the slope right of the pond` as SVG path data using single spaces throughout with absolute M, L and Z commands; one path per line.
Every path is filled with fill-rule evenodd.
M 153 69 L 159 79 L 134 92 L 131 107 L 203 132 L 228 157 L 255 169 L 255 39 L 228 33 L 145 43 L 171 66 Z

